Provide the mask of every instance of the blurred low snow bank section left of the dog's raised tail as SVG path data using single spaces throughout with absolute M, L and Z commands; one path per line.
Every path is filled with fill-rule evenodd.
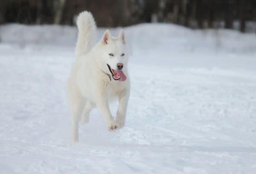
M 27 26 L 21 24 L 0 26 L 0 38 L 2 43 L 19 45 L 61 44 L 70 46 L 75 43 L 76 35 L 76 28 L 70 26 Z

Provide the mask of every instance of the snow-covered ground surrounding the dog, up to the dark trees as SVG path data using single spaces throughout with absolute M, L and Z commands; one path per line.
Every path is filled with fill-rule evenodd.
M 65 86 L 76 28 L 0 26 L 0 173 L 254 174 L 256 36 L 170 24 L 125 33 L 126 125 L 108 132 L 94 109 L 72 144 Z

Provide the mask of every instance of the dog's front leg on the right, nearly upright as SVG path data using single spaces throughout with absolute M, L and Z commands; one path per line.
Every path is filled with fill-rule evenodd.
M 119 125 L 119 128 L 122 128 L 125 125 L 125 117 L 126 117 L 126 110 L 127 110 L 129 96 L 130 96 L 130 92 L 127 89 L 122 90 L 118 94 L 119 106 L 116 113 L 116 124 Z

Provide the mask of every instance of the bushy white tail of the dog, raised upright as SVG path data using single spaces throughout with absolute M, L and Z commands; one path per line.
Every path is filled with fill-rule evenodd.
M 76 41 L 76 57 L 87 54 L 94 44 L 96 24 L 90 12 L 81 12 L 76 21 L 78 27 L 78 38 Z

